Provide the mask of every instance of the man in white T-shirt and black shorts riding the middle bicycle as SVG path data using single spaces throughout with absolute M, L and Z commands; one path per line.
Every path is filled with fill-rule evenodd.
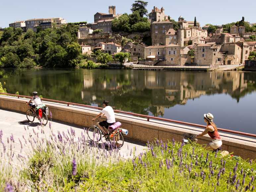
M 108 135 L 108 133 L 107 133 L 108 126 L 113 125 L 115 123 L 115 113 L 114 113 L 113 108 L 108 105 L 108 101 L 103 100 L 102 104 L 103 104 L 104 108 L 95 118 L 93 118 L 93 121 L 99 117 L 102 117 L 103 115 L 105 115 L 107 117 L 106 121 L 101 121 L 99 123 L 99 128 L 104 133 L 103 137 L 106 137 Z M 103 127 L 105 127 L 105 128 L 103 128 Z

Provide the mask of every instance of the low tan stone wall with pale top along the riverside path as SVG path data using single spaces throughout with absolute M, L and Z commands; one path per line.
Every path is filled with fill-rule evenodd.
M 12 96 L 0 96 L 0 108 L 10 109 L 25 113 L 28 106 L 25 105 L 27 98 L 17 98 Z M 99 113 L 99 110 L 76 106 L 65 105 L 61 103 L 53 103 L 44 101 L 52 112 L 52 118 L 67 123 L 79 125 L 81 127 L 89 127 L 94 125 L 92 119 Z M 26 118 L 24 116 L 24 118 Z M 182 140 L 183 133 L 199 134 L 203 129 L 179 125 L 170 122 L 158 120 L 147 121 L 145 118 L 130 116 L 126 114 L 116 113 L 116 121 L 122 123 L 122 128 L 129 131 L 127 137 L 140 140 L 143 142 L 154 141 L 155 139 L 163 142 Z M 226 133 L 220 133 L 223 140 L 223 150 L 234 155 L 241 156 L 244 159 L 256 159 L 256 139 L 234 136 Z M 199 139 L 198 143 L 207 144 L 211 141 L 209 136 Z

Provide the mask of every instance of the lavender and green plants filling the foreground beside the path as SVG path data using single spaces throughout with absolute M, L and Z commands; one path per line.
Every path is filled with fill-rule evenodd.
M 1 163 L 0 191 L 7 183 L 20 191 L 252 191 L 256 185 L 255 161 L 222 157 L 196 143 L 156 141 L 138 157 L 129 149 L 131 159 L 124 160 L 111 146 L 88 143 L 86 131 L 48 137 L 42 132 L 43 139 L 36 132 L 19 170 Z

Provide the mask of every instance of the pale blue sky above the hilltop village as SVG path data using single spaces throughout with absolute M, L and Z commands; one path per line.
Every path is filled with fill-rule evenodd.
M 111 3 L 108 3 L 111 2 Z M 32 18 L 62 17 L 67 22 L 93 22 L 96 12 L 108 13 L 108 6 L 115 5 L 116 13 L 130 13 L 132 0 L 0 0 L 0 27 Z M 182 15 L 187 21 L 197 21 L 201 26 L 211 23 L 221 25 L 241 20 L 256 23 L 256 1 L 240 0 L 148 0 L 148 11 L 154 6 L 165 9 L 165 14 L 176 21 Z M 242 4 L 241 2 L 244 2 Z M 246 2 L 246 3 L 245 3 Z

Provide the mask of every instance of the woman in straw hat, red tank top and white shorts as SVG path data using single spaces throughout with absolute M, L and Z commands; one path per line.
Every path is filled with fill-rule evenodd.
M 222 140 L 217 126 L 213 122 L 213 115 L 211 113 L 204 114 L 204 121 L 207 123 L 205 130 L 201 134 L 197 135 L 194 139 L 202 137 L 208 133 L 208 135 L 212 138 L 212 142 L 210 142 L 206 148 L 216 150 L 222 146 Z

